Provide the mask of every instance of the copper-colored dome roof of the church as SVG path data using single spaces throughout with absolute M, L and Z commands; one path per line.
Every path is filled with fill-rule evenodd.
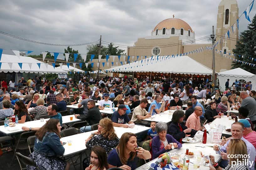
M 189 26 L 187 22 L 178 18 L 168 18 L 159 22 L 157 26 L 153 29 L 153 31 L 155 31 L 156 29 L 162 30 L 163 28 L 172 29 L 173 27 L 175 29 L 183 28 L 186 31 L 190 30 L 191 32 L 193 32 L 192 28 Z

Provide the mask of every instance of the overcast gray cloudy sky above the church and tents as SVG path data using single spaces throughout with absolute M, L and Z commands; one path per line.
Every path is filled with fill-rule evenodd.
M 174 14 L 188 22 L 195 31 L 195 38 L 200 38 L 211 34 L 212 25 L 216 28 L 219 2 L 221 0 L 5 0 L 1 1 L 0 30 L 53 44 L 94 42 L 102 35 L 103 41 L 131 46 L 138 37 L 149 36 L 157 23 Z M 251 2 L 237 0 L 239 16 Z M 251 20 L 255 9 L 256 4 L 250 13 Z M 243 16 L 240 31 L 246 29 L 248 23 Z M 31 54 L 39 54 L 42 51 L 63 53 L 65 47 L 26 42 L 0 34 L 0 48 L 32 50 L 35 52 Z M 72 48 L 87 53 L 86 46 Z

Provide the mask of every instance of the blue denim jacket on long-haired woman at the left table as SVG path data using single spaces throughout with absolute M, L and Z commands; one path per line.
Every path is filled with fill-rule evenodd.
M 42 141 L 35 139 L 34 152 L 46 157 L 60 157 L 65 152 L 65 148 L 60 142 L 59 136 L 54 132 L 47 132 Z

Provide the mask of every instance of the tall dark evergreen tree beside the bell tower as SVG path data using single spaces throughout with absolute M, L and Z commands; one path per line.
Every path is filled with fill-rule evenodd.
M 236 59 L 256 64 L 250 58 L 256 58 L 256 15 L 253 17 L 252 22 L 248 25 L 248 30 L 241 32 L 240 39 L 237 41 L 236 49 L 233 49 L 233 53 L 242 56 L 243 58 L 236 55 Z M 256 68 L 247 64 L 232 62 L 232 68 L 242 68 L 250 73 L 255 74 Z

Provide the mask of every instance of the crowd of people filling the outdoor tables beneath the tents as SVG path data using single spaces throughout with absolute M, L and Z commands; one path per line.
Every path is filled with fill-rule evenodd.
M 247 87 L 249 92 L 239 92 L 236 88 L 227 88 L 221 92 L 209 86 L 199 91 L 191 79 L 188 82 L 183 79 L 170 82 L 162 79 L 161 82 L 150 83 L 116 76 L 100 80 L 84 78 L 76 83 L 69 78 L 63 85 L 57 83 L 60 82 L 57 78 L 44 82 L 36 77 L 27 81 L 22 78 L 17 89 L 12 87 L 11 82 L 9 87 L 5 86 L 6 83 L 1 84 L 0 119 L 15 114 L 19 123 L 24 123 L 37 120 L 40 115 L 50 115 L 50 120 L 41 128 L 22 127 L 25 131 L 36 131 L 34 152 L 29 157 L 41 169 L 69 169 L 69 163 L 59 158 L 65 151 L 60 135 L 61 112 L 67 110 L 67 105 L 74 104 L 77 104 L 77 108 L 69 112 L 88 123 L 80 128 L 80 133 L 91 131 L 91 126 L 99 123 L 98 131 L 86 139 L 85 145 L 91 150 L 90 157 L 83 161 L 86 170 L 113 167 L 135 169 L 138 158 L 149 160 L 173 148 L 181 148 L 183 138 L 194 137 L 197 131 L 204 129 L 206 120 L 210 123 L 223 114 L 227 115 L 230 109 L 238 110 L 240 120 L 232 124 L 232 137 L 221 142 L 223 150 L 219 152 L 219 148 L 214 147 L 222 159 L 217 164 L 211 157 L 213 166 L 216 169 L 218 166 L 228 169 L 230 163 L 227 153 L 239 154 L 241 151 L 230 149 L 237 143 L 247 148 L 250 160 L 255 160 L 256 92 L 248 88 L 250 83 Z M 93 87 L 90 88 L 89 84 Z M 185 108 L 185 104 L 187 107 L 184 112 L 182 108 Z M 100 113 L 100 110 L 112 107 L 117 107 L 117 110 L 110 118 Z M 168 109 L 175 110 L 169 124 L 144 120 Z M 235 114 L 232 117 L 237 118 Z M 135 125 L 148 126 L 150 130 L 137 135 L 124 133 L 119 139 L 113 128 L 133 128 Z M 28 169 L 35 167 L 30 166 Z

